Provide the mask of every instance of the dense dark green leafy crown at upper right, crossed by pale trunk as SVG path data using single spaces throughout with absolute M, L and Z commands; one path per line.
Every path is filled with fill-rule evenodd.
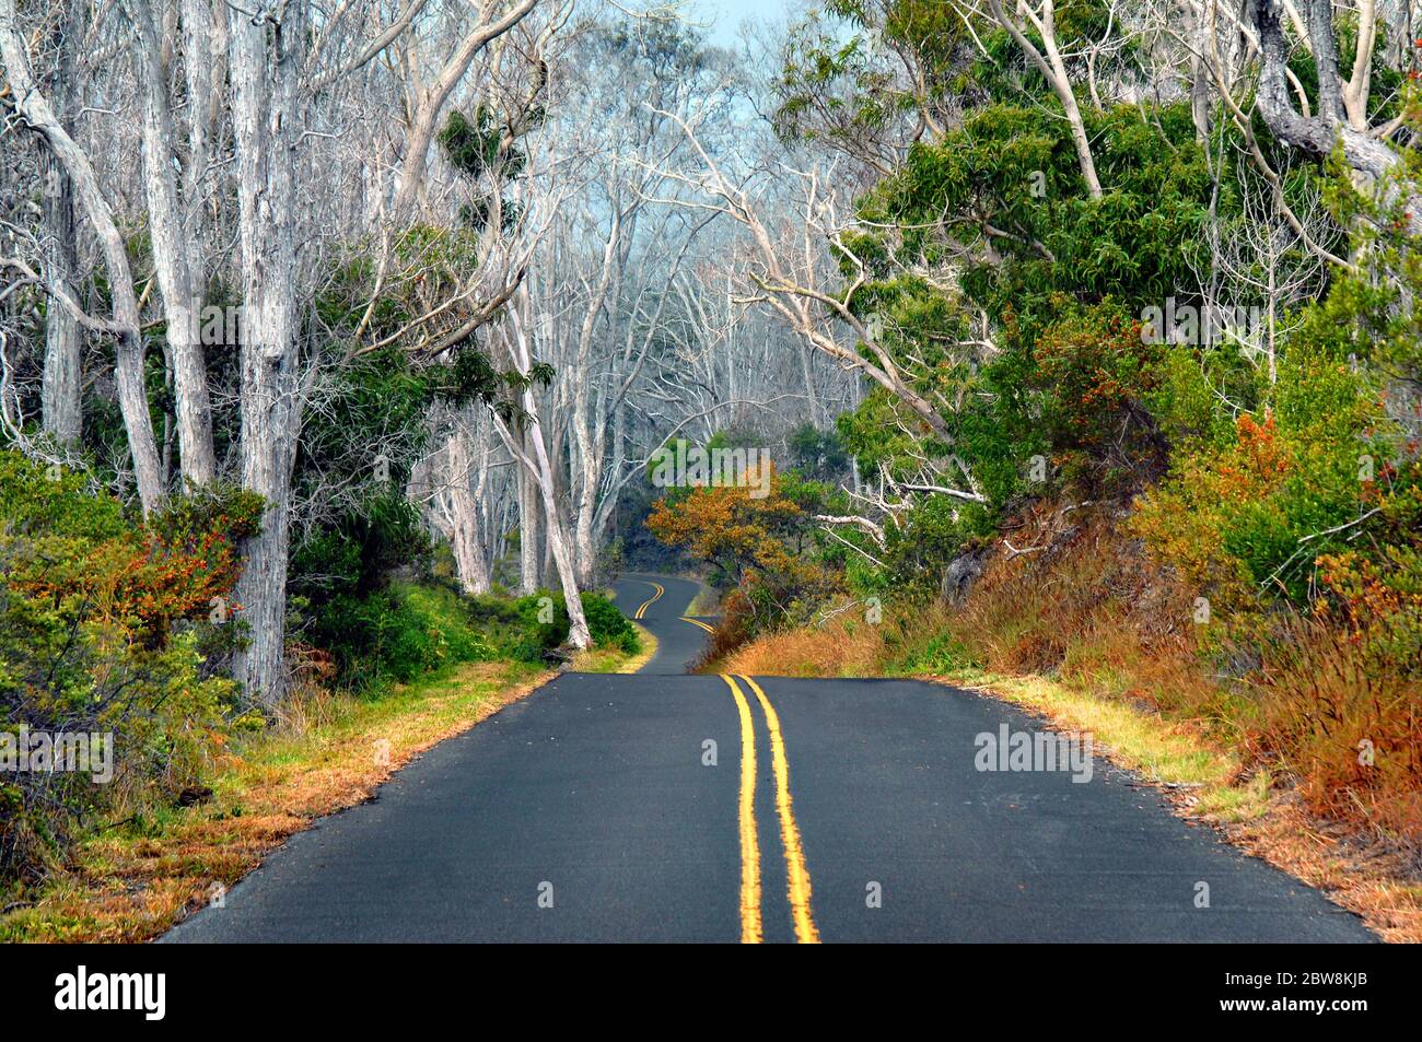
M 1121 105 L 1086 118 L 1099 199 L 1082 185 L 1061 118 L 995 104 L 941 142 L 912 148 L 860 215 L 904 227 L 902 249 L 930 263 L 968 247 L 966 294 L 1012 316 L 1024 337 L 1052 320 L 1062 294 L 1133 311 L 1185 296 L 1207 247 L 1213 195 L 1189 109 Z

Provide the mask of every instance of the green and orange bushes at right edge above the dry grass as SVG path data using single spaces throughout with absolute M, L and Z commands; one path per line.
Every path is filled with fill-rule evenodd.
M 1139 510 L 1155 553 L 1256 635 L 1277 600 L 1345 627 L 1379 675 L 1422 671 L 1416 344 L 1422 263 L 1394 215 L 1352 196 L 1365 266 L 1304 308 L 1278 360 L 1256 377 L 1256 415 L 1233 438 L 1177 453 Z M 1263 415 L 1263 419 L 1257 417 Z M 1250 631 L 1254 631 L 1253 634 Z

